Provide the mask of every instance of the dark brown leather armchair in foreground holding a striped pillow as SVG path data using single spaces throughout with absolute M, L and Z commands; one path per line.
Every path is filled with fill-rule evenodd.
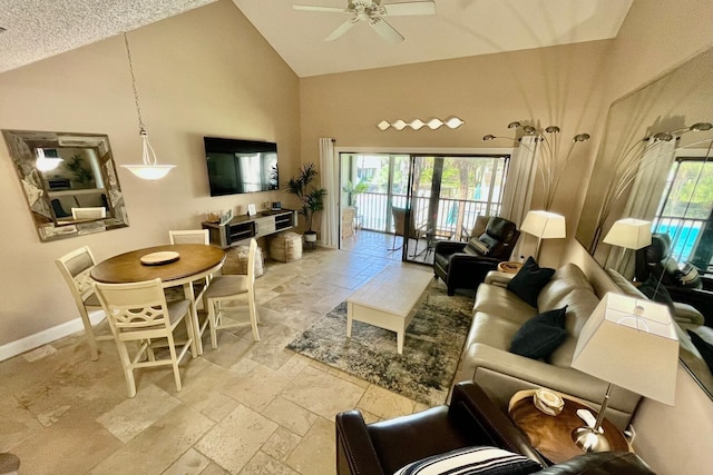
M 359 410 L 336 415 L 336 473 L 393 474 L 407 464 L 469 446 L 495 446 L 524 455 L 538 474 L 653 474 L 633 453 L 585 454 L 548 463 L 477 384 L 453 387 L 450 406 L 367 425 Z M 480 472 L 479 472 L 480 473 Z

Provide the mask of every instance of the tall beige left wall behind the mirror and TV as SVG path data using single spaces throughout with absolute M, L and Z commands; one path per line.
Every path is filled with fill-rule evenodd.
M 166 244 L 168 229 L 198 227 L 208 210 L 284 198 L 276 191 L 208 195 L 204 135 L 277 141 L 283 176 L 300 155 L 297 77 L 240 10 L 223 0 L 133 31 L 129 41 L 152 144 L 159 162 L 178 167 L 155 184 L 118 169 L 128 228 L 40 243 L 0 145 L 0 348 L 77 318 L 55 267 L 58 256 L 88 245 L 104 259 Z M 107 133 L 117 165 L 140 162 L 120 36 L 0 75 L 0 129 Z

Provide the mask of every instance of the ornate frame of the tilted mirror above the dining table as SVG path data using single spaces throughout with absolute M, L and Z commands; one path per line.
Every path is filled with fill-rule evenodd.
M 124 228 L 129 225 L 108 136 L 37 130 L 2 130 L 2 135 L 18 172 L 20 186 L 25 191 L 25 198 L 40 241 L 66 239 Z M 49 187 L 35 165 L 36 149 L 62 147 L 96 150 L 109 205 L 106 218 L 61 222 L 52 212 Z

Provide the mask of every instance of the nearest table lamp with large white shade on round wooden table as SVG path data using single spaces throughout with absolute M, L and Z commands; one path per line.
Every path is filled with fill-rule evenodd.
M 606 452 L 602 428 L 612 386 L 673 406 L 678 337 L 665 305 L 614 293 L 604 296 L 582 328 L 572 367 L 609 382 L 594 426 L 572 438 L 585 452 Z

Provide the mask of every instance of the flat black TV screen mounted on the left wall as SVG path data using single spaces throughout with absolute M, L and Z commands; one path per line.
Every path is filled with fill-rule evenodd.
M 211 196 L 276 190 L 277 144 L 204 137 Z

